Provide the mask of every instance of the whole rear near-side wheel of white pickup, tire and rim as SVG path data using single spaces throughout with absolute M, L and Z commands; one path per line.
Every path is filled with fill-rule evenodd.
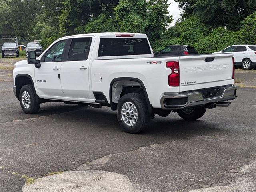
M 117 104 L 117 118 L 124 131 L 141 132 L 150 120 L 145 97 L 138 93 L 122 96 Z

